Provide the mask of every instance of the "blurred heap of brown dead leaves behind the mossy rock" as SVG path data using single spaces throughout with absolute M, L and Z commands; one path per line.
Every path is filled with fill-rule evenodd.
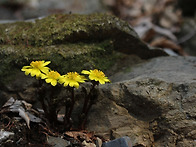
M 187 55 L 175 36 L 182 23 L 177 0 L 103 0 L 113 14 L 128 21 L 140 38 L 152 47 L 170 49 Z M 162 41 L 162 42 L 161 42 Z

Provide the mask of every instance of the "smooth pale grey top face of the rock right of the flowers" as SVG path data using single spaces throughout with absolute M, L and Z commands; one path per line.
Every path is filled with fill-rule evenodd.
M 112 82 L 134 78 L 158 78 L 168 82 L 196 82 L 196 57 L 159 57 L 119 72 L 111 77 Z

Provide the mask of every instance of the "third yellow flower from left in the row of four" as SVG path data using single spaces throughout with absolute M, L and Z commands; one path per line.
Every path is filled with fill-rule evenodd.
M 79 87 L 79 83 L 84 83 L 87 80 L 84 76 L 79 75 L 77 72 L 69 72 L 63 75 L 59 79 L 59 83 L 64 86 Z

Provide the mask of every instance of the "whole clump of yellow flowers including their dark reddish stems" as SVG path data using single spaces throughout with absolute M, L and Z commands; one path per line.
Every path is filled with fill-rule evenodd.
M 64 87 L 71 87 L 67 88 L 67 90 L 71 93 L 71 100 L 69 100 L 69 105 L 66 102 L 61 104 L 65 106 L 65 114 L 64 114 L 64 129 L 69 130 L 72 126 L 71 121 L 71 114 L 73 112 L 74 104 L 75 104 L 75 94 L 74 88 L 79 88 L 80 83 L 84 83 L 88 79 L 91 81 L 91 88 L 90 91 L 87 93 L 87 89 L 83 87 L 83 92 L 85 92 L 84 96 L 84 104 L 81 111 L 81 114 L 79 114 L 79 121 L 80 129 L 85 128 L 86 119 L 88 116 L 88 112 L 94 103 L 94 100 L 96 100 L 96 88 L 95 86 L 100 84 L 105 84 L 106 82 L 110 82 L 108 77 L 105 76 L 105 74 L 98 70 L 82 70 L 82 74 L 80 75 L 77 72 L 68 72 L 64 75 L 61 75 L 57 71 L 51 70 L 49 67 L 47 67 L 48 64 L 50 64 L 50 61 L 32 61 L 30 63 L 30 66 L 24 66 L 21 70 L 25 72 L 25 75 L 31 75 L 32 77 L 36 77 L 36 79 L 42 79 L 45 80 L 46 83 L 51 84 L 52 86 L 56 86 L 58 83 L 62 84 Z M 85 77 L 85 75 L 88 75 L 88 78 Z M 40 82 L 40 84 L 43 84 Z M 42 86 L 42 85 L 40 85 Z M 59 88 L 59 87 L 56 87 Z M 45 95 L 44 88 L 39 88 L 39 101 L 41 102 L 42 108 L 45 112 L 45 117 L 49 120 L 51 124 L 58 124 L 57 114 L 58 114 L 58 108 L 57 107 L 50 107 L 53 105 L 56 105 L 56 103 L 53 102 L 53 98 L 56 97 L 56 88 L 50 87 L 51 91 L 48 91 L 49 94 Z M 61 100 L 61 99 L 60 99 Z M 58 106 L 58 105 L 57 105 Z

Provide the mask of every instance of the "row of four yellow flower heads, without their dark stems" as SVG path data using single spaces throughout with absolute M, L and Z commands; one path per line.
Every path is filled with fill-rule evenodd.
M 57 71 L 47 67 L 50 63 L 50 61 L 32 61 L 30 66 L 24 66 L 21 70 L 25 72 L 25 75 L 30 74 L 32 77 L 36 76 L 37 79 L 44 79 L 46 83 L 50 83 L 52 86 L 56 86 L 57 83 L 60 83 L 64 86 L 78 88 L 80 83 L 84 83 L 87 80 L 85 76 L 77 72 L 69 72 L 65 75 L 60 75 Z M 100 84 L 110 82 L 105 74 L 98 69 L 90 71 L 83 70 L 81 73 L 89 75 L 91 81 L 96 81 Z

